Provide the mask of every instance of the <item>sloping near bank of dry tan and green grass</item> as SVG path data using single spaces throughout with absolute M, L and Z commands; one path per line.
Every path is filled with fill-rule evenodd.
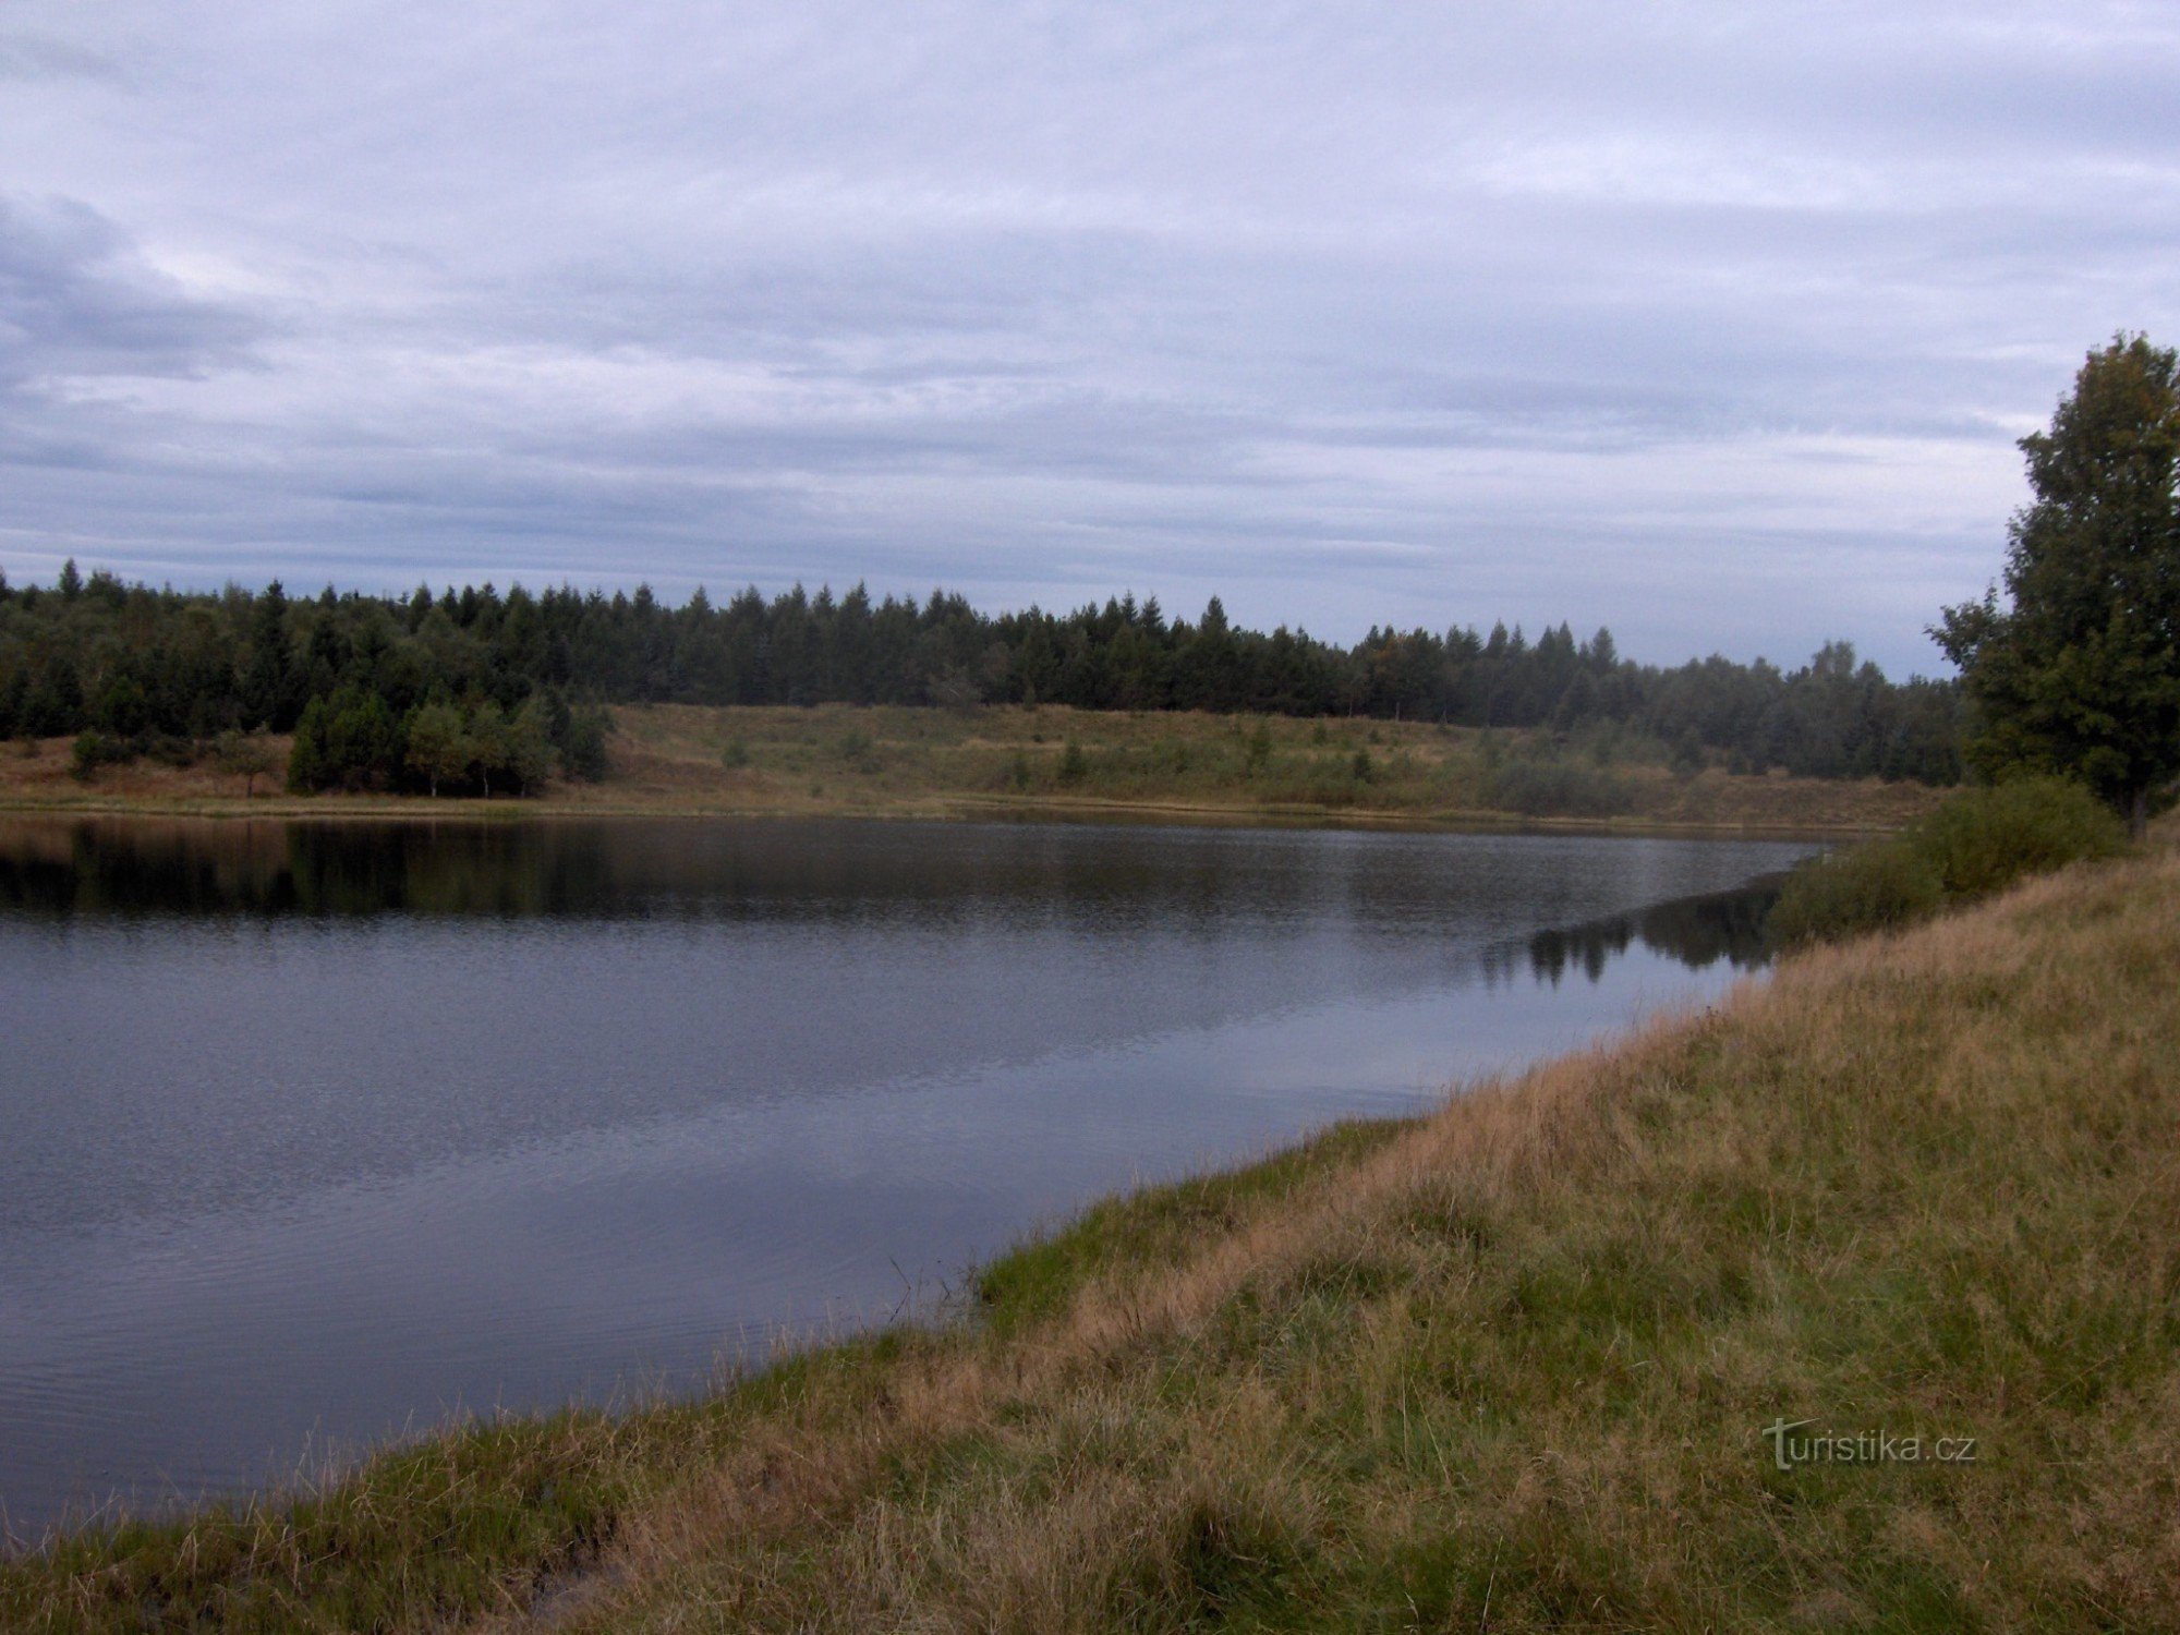
M 2180 1626 L 2176 968 L 2169 848 L 2049 876 L 1107 1203 L 985 1321 L 78 1537 L 0 1622 Z

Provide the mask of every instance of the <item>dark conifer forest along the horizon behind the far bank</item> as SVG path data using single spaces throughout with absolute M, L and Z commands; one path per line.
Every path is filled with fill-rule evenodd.
M 190 593 L 0 573 L 0 737 L 76 735 L 78 763 L 294 732 L 294 789 L 519 794 L 606 772 L 604 704 L 1070 704 L 1369 715 L 1478 728 L 1639 728 L 1735 772 L 1953 783 L 1953 682 L 1888 680 L 1827 643 L 1799 669 L 1622 658 L 1609 630 L 1371 630 L 1354 647 L 1243 630 L 1216 600 L 988 615 L 935 591 L 802 586 L 682 606 L 652 591 L 491 584 L 410 597 Z M 246 752 L 244 752 L 246 754 Z M 270 767 L 266 767 L 270 772 Z

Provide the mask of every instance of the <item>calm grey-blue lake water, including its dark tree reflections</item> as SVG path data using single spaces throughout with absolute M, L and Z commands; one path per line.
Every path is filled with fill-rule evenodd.
M 0 820 L 17 1537 L 929 1306 L 1718 992 L 1788 841 Z

